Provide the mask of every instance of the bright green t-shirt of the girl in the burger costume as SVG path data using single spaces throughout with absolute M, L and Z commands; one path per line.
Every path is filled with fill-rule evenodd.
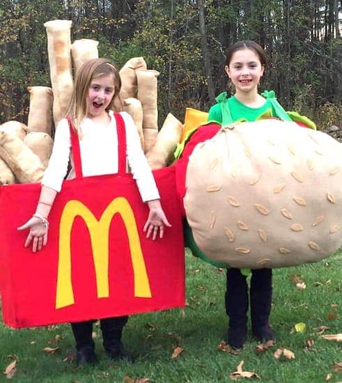
M 264 114 L 274 116 L 274 110 L 272 108 L 270 100 L 265 99 L 265 103 L 262 107 L 259 108 L 247 107 L 247 105 L 242 104 L 242 102 L 240 102 L 235 97 L 235 95 L 229 97 L 227 101 L 229 109 L 231 111 L 231 117 L 234 121 L 255 121 Z M 208 121 L 216 121 L 217 123 L 222 123 L 221 104 L 215 104 L 210 108 Z

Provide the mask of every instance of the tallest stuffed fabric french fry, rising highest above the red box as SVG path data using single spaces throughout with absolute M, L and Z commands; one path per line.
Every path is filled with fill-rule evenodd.
M 70 20 L 46 22 L 47 52 L 49 55 L 50 77 L 54 93 L 54 125 L 65 116 L 70 102 L 73 80 L 70 56 Z

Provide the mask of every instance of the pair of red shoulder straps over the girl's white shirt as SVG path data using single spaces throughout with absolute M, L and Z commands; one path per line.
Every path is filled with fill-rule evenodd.
M 126 131 L 125 131 L 125 122 L 121 114 L 114 113 L 116 120 L 116 134 L 118 135 L 118 174 L 123 175 L 126 173 Z M 75 130 L 72 125 L 72 120 L 70 117 L 67 117 L 70 130 L 70 140 L 71 140 L 71 153 L 72 160 L 74 162 L 73 166 L 75 169 L 75 178 L 83 178 L 82 166 L 81 166 L 81 151 L 79 149 L 79 137 L 77 130 Z

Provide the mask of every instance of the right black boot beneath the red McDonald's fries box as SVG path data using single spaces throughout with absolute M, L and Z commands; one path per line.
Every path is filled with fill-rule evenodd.
M 128 317 L 105 318 L 100 321 L 103 347 L 107 354 L 113 360 L 125 359 L 126 361 L 133 362 L 133 358 L 123 348 L 121 336 L 123 334 L 123 327 L 127 323 Z

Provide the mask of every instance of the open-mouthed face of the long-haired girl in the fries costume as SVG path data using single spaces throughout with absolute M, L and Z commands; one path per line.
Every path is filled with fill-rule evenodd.
M 114 97 L 115 86 L 112 75 L 104 75 L 91 80 L 86 97 L 86 115 L 99 117 L 106 114 L 107 107 Z

